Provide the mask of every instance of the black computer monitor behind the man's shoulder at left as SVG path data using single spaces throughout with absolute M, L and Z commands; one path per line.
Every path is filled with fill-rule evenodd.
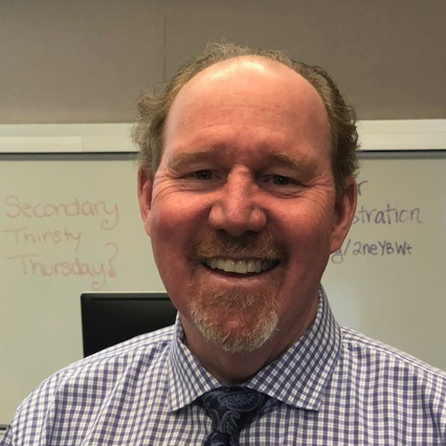
M 164 326 L 177 310 L 167 293 L 100 292 L 80 296 L 84 356 Z

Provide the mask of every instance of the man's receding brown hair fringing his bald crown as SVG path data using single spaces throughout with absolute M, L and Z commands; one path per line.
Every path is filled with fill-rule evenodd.
M 147 175 L 154 175 L 161 161 L 164 128 L 171 104 L 179 90 L 197 73 L 211 65 L 235 57 L 259 55 L 295 70 L 314 87 L 326 107 L 330 122 L 332 169 L 337 190 L 343 190 L 344 178 L 355 175 L 358 169 L 358 134 L 355 111 L 345 103 L 335 82 L 325 70 L 296 62 L 275 50 L 252 49 L 235 44 L 211 44 L 201 54 L 185 62 L 162 87 L 145 93 L 138 103 L 139 119 L 133 139 L 139 146 L 140 164 Z

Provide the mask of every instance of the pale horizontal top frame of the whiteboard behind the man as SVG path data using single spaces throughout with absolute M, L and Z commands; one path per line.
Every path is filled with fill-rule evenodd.
M 135 153 L 132 123 L 4 124 L 0 153 Z M 446 120 L 359 120 L 360 150 L 446 149 Z

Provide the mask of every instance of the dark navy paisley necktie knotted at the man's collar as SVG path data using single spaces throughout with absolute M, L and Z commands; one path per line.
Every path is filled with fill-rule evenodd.
M 267 395 L 245 387 L 219 387 L 206 392 L 197 403 L 212 419 L 212 432 L 203 446 L 238 446 L 240 431 L 260 416 Z

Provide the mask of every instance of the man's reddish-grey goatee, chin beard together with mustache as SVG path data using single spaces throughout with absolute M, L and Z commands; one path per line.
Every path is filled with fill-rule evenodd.
M 192 261 L 199 264 L 202 259 L 216 257 L 283 262 L 286 250 L 275 246 L 268 235 L 210 234 L 195 245 Z M 197 286 L 193 278 L 187 293 L 194 325 L 208 342 L 222 351 L 232 354 L 256 351 L 277 330 L 278 285 L 273 282 L 256 292 L 243 285 L 220 290 L 210 284 Z

